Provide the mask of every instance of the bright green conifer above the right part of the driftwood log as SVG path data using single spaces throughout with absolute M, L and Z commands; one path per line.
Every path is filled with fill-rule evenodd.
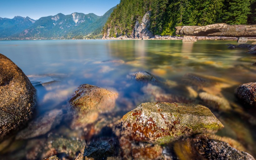
M 224 13 L 224 21 L 230 25 L 245 25 L 250 14 L 249 0 L 231 0 L 228 11 Z

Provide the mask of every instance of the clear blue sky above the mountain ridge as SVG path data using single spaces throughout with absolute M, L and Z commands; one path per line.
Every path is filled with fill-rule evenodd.
M 119 2 L 120 0 L 1 0 L 0 17 L 28 16 L 38 20 L 58 13 L 69 15 L 74 12 L 102 16 Z

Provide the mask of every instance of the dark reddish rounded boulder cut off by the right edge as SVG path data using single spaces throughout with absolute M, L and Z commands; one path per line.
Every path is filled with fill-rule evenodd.
M 256 106 L 256 83 L 239 85 L 235 91 L 236 96 L 245 104 Z

